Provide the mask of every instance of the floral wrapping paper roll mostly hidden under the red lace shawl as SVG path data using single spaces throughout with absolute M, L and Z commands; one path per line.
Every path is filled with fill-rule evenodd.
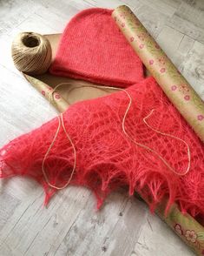
M 43 83 L 40 79 L 37 79 L 37 77 L 30 77 L 25 74 L 24 77 L 26 77 L 30 84 L 32 84 L 43 97 L 50 101 L 49 95 L 53 92 L 53 89 L 48 84 Z M 66 111 L 69 108 L 68 102 L 66 102 L 59 93 L 56 95 L 55 103 L 52 104 L 56 107 L 56 110 L 60 112 Z M 204 227 L 188 213 L 182 214 L 176 204 L 171 206 L 168 215 L 166 216 L 165 205 L 166 202 L 164 201 L 156 210 L 160 218 L 163 219 L 168 226 L 170 226 L 174 232 L 176 232 L 181 239 L 194 250 L 194 253 L 203 255 L 201 253 L 204 253 Z

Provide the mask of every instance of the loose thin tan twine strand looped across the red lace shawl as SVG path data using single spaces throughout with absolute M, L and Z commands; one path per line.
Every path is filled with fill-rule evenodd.
M 54 100 L 53 99 L 53 94 L 56 92 L 56 89 L 59 88 L 60 86 L 62 85 L 71 85 L 72 83 L 71 82 L 68 82 L 68 83 L 61 83 L 61 84 L 57 84 L 56 87 L 54 88 L 54 90 L 50 93 L 50 100 Z M 185 172 L 177 172 L 176 170 L 174 170 L 174 168 L 168 164 L 168 162 L 161 157 L 161 155 L 158 153 L 158 152 L 155 152 L 152 148 L 148 147 L 147 145 L 142 145 L 141 143 L 139 142 L 136 142 L 135 139 L 131 138 L 129 135 L 128 135 L 128 132 L 126 131 L 126 128 L 125 128 L 125 121 L 126 121 L 126 118 L 127 118 L 127 115 L 128 115 L 128 111 L 130 109 L 130 106 L 132 104 L 132 98 L 130 96 L 130 94 L 128 93 L 128 91 L 126 91 L 125 89 L 122 89 L 122 88 L 117 88 L 117 87 L 111 87 L 111 86 L 102 86 L 102 85 L 94 85 L 94 84 L 82 84 L 82 83 L 78 83 L 78 86 L 74 87 L 74 88 L 70 88 L 68 92 L 70 91 L 73 91 L 73 90 L 76 90 L 76 89 L 79 89 L 79 88 L 83 88 L 83 87 L 89 87 L 89 88 L 96 88 L 96 89 L 100 89 L 102 91 L 107 91 L 107 90 L 115 90 L 115 91 L 124 91 L 127 96 L 128 96 L 128 99 L 129 99 L 129 102 L 128 102 L 128 107 L 124 113 L 124 116 L 122 118 L 122 131 L 124 132 L 124 134 L 127 136 L 127 138 L 129 138 L 135 145 L 138 145 L 138 146 L 141 146 L 142 148 L 148 150 L 149 152 L 153 152 L 155 153 L 155 155 L 161 159 L 161 161 L 168 167 L 169 170 L 171 170 L 172 172 L 174 172 L 175 174 L 179 175 L 179 176 L 184 176 L 186 175 L 189 170 L 190 170 L 190 165 L 191 165 L 191 155 L 190 155 L 190 148 L 189 148 L 189 145 L 186 141 L 182 140 L 181 138 L 177 138 L 175 137 L 174 135 L 170 135 L 168 133 L 164 133 L 164 132 L 161 132 L 161 131 L 157 131 L 155 130 L 151 125 L 148 125 L 147 123 L 147 119 L 152 115 L 152 113 L 155 111 L 154 109 L 152 111 L 150 111 L 150 113 L 148 114 L 147 117 L 143 118 L 143 122 L 145 125 L 147 125 L 152 131 L 155 131 L 163 136 L 168 136 L 168 137 L 171 137 L 171 138 L 175 138 L 175 139 L 178 139 L 180 140 L 181 142 L 183 142 L 186 146 L 187 146 L 187 149 L 188 149 L 188 168 Z M 56 188 L 58 190 L 60 189 L 63 189 L 65 188 L 67 185 L 69 185 L 69 182 L 70 180 L 72 179 L 73 175 L 74 175 L 74 172 L 76 171 L 76 147 L 72 141 L 72 139 L 69 137 L 69 134 L 68 132 L 66 131 L 66 128 L 64 126 L 64 122 L 63 122 L 63 113 L 61 113 L 60 117 L 58 116 L 58 120 L 59 120 L 59 125 L 57 127 L 57 130 L 56 130 L 56 134 L 55 134 L 55 137 L 53 138 L 52 142 L 51 142 L 51 145 L 49 145 L 49 149 L 48 151 L 46 152 L 44 158 L 43 158 L 43 165 L 42 165 L 42 169 L 43 169 L 43 175 L 44 175 L 44 178 L 46 180 L 46 182 L 49 184 L 49 186 L 53 187 L 53 188 Z M 46 160 L 46 158 L 48 157 L 49 155 L 49 152 L 52 148 L 52 146 L 54 145 L 55 141 L 56 141 L 56 137 L 59 133 L 59 130 L 61 128 L 61 125 L 63 126 L 63 131 L 65 132 L 67 138 L 69 139 L 69 142 L 70 144 L 72 145 L 72 148 L 73 148 L 73 152 L 74 152 L 74 166 L 73 166 L 73 169 L 72 169 L 72 172 L 71 172 L 71 175 L 69 177 L 69 180 L 67 181 L 67 183 L 65 185 L 63 185 L 62 187 L 58 187 L 56 185 L 51 185 L 49 183 L 49 179 L 47 177 L 47 174 L 44 170 L 44 162 Z

